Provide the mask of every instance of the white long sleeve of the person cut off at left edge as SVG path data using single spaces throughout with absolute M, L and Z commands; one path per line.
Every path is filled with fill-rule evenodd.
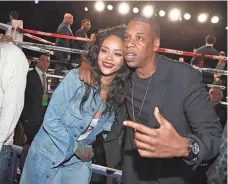
M 3 99 L 0 111 L 0 150 L 14 132 L 24 106 L 24 92 L 28 62 L 22 51 L 9 44 L 2 48 L 1 59 L 5 62 L 1 76 Z

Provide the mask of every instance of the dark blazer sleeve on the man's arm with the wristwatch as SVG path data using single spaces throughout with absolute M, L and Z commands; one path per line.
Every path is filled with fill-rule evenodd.
M 210 103 L 209 93 L 203 85 L 199 71 L 191 70 L 186 86 L 183 92 L 186 99 L 184 110 L 193 131 L 193 134 L 186 136 L 196 140 L 200 146 L 196 167 L 202 161 L 212 159 L 218 154 L 222 126 Z

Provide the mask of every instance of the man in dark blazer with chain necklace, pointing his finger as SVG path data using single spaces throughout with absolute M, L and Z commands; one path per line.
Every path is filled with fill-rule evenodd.
M 202 184 L 200 164 L 218 154 L 222 127 L 200 72 L 156 54 L 159 46 L 155 20 L 137 17 L 129 22 L 124 56 L 135 72 L 126 97 L 132 121 L 124 122 L 123 184 Z M 86 74 L 84 62 L 80 78 L 87 80 Z M 119 124 L 113 124 L 105 147 L 119 141 L 124 118 L 117 116 Z M 105 151 L 113 155 L 113 149 Z

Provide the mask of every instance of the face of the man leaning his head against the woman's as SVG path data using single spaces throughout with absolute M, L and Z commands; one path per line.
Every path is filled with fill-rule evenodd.
M 154 55 L 154 38 L 147 23 L 130 21 L 124 38 L 124 56 L 129 67 L 140 68 Z

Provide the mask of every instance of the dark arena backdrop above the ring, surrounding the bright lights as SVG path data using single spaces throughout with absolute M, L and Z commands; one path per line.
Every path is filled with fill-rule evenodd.
M 106 1 L 106 6 L 112 4 L 114 9 L 104 12 L 96 12 L 94 9 L 94 1 L 40 1 L 35 4 L 34 1 L 1 1 L 0 2 L 0 22 L 8 22 L 8 13 L 11 10 L 16 10 L 20 14 L 21 20 L 24 21 L 24 28 L 40 30 L 44 32 L 56 32 L 58 25 L 63 20 L 63 15 L 66 12 L 74 15 L 74 24 L 72 25 L 72 31 L 75 32 L 80 28 L 80 22 L 82 19 L 88 18 L 91 20 L 92 28 L 89 32 L 97 31 L 98 28 L 106 28 L 118 24 L 127 24 L 128 21 L 134 16 L 132 8 L 137 6 L 141 8 L 147 4 L 155 7 L 155 14 L 160 9 L 166 11 L 165 17 L 159 17 L 161 26 L 161 47 L 193 51 L 194 48 L 198 48 L 205 42 L 205 37 L 213 33 L 217 36 L 216 48 L 217 50 L 227 51 L 227 2 L 226 1 L 168 1 L 168 2 L 137 2 L 127 1 L 130 4 L 130 12 L 128 15 L 120 15 L 117 12 L 117 6 L 119 2 Z M 89 8 L 88 12 L 84 11 L 84 7 Z M 168 18 L 168 11 L 172 8 L 179 8 L 182 14 L 189 12 L 191 19 L 189 21 L 182 20 L 178 22 L 171 22 Z M 199 13 L 209 13 L 209 19 L 206 23 L 201 24 L 197 21 L 197 15 Z M 210 18 L 214 15 L 219 16 L 220 21 L 217 24 L 212 24 Z M 43 37 L 45 38 L 45 37 Z M 53 38 L 46 37 L 50 41 L 54 41 Z M 25 39 L 26 41 L 31 41 Z M 26 51 L 27 52 L 27 51 Z M 31 53 L 30 53 L 31 54 Z M 33 53 L 37 54 L 37 53 Z M 178 56 L 171 56 L 177 59 Z M 186 61 L 190 58 L 186 57 Z

